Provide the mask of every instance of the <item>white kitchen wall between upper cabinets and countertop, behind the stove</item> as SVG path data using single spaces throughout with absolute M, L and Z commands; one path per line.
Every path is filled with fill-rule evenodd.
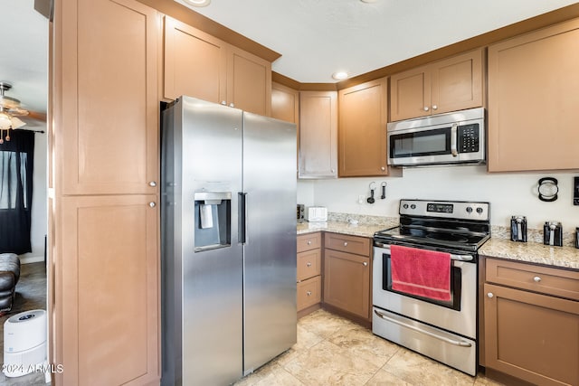
M 538 179 L 553 176 L 558 180 L 555 202 L 539 201 Z M 527 216 L 529 229 L 543 229 L 549 220 L 561 221 L 564 231 L 579 227 L 579 206 L 573 205 L 573 177 L 579 171 L 556 173 L 489 174 L 485 165 L 429 166 L 403 169 L 403 177 L 339 178 L 298 183 L 298 202 L 324 205 L 328 212 L 377 216 L 398 216 L 401 198 L 490 202 L 491 223 L 509 226 L 510 216 Z M 368 184 L 375 182 L 375 203 L 365 202 Z M 386 199 L 380 199 L 380 184 L 386 182 Z M 357 202 L 364 195 L 364 203 Z M 300 201 L 301 200 L 301 201 Z

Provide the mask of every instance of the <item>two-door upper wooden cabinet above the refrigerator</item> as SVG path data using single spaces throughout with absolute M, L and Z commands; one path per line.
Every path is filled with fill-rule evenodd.
M 188 95 L 271 115 L 271 62 L 165 17 L 164 97 Z

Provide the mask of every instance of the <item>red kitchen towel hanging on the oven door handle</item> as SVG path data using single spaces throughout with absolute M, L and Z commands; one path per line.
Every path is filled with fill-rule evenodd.
M 419 297 L 451 300 L 451 254 L 390 246 L 392 289 Z

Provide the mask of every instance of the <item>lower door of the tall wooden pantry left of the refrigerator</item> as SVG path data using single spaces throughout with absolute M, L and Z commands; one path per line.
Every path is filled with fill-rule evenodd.
M 149 202 L 157 195 L 62 198 L 59 384 L 158 382 L 158 211 Z

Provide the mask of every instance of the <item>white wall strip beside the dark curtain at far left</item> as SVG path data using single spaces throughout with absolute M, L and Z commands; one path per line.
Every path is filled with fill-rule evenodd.
M 33 127 L 34 130 L 44 130 L 46 127 Z M 30 239 L 33 251 L 20 255 L 21 263 L 32 263 L 44 260 L 44 235 L 48 229 L 47 217 L 47 180 L 46 168 L 48 146 L 46 133 L 34 134 L 34 174 L 33 174 L 33 207 Z

